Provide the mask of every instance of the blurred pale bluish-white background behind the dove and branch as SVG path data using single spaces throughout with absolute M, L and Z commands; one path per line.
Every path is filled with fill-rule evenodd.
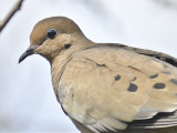
M 17 0 L 0 0 L 0 20 Z M 73 19 L 95 42 L 119 42 L 177 57 L 177 0 L 24 0 L 0 33 L 0 132 L 79 133 L 56 102 L 50 64 L 18 64 L 41 19 Z

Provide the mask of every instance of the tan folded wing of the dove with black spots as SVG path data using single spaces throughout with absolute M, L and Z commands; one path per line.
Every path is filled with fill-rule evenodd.
M 95 133 L 177 125 L 177 69 L 124 48 L 74 53 L 58 92 L 64 111 Z

